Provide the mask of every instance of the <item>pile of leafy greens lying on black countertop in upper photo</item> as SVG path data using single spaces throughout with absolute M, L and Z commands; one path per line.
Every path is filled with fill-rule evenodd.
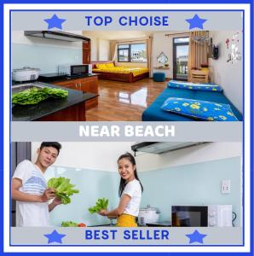
M 20 105 L 31 105 L 42 102 L 50 97 L 52 98 L 66 98 L 68 96 L 67 90 L 57 89 L 57 88 L 31 88 L 28 90 L 23 90 L 18 93 L 15 93 L 12 96 L 13 104 Z

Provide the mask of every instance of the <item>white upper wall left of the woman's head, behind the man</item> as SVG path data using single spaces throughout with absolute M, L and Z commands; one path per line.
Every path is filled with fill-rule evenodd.
M 32 143 L 32 161 L 41 143 Z M 61 152 L 55 166 L 85 168 L 117 172 L 117 160 L 121 154 L 130 152 L 134 143 L 61 143 Z

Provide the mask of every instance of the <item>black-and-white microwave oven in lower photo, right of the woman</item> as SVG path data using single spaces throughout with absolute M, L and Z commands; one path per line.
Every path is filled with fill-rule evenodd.
M 232 227 L 232 205 L 172 206 L 172 227 Z

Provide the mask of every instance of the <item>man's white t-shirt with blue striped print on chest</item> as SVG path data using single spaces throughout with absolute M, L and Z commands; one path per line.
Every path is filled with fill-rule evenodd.
M 14 172 L 14 177 L 22 181 L 22 186 L 19 190 L 26 194 L 43 195 L 44 190 L 47 189 L 47 182 L 43 177 L 43 172 L 29 160 L 20 162 Z M 17 201 L 16 226 L 50 226 L 49 203 Z

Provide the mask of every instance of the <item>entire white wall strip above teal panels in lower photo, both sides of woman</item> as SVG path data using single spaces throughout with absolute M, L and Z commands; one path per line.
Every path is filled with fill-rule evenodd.
M 120 154 L 130 152 L 128 143 L 61 143 L 62 149 L 55 166 L 86 168 L 108 172 L 117 171 Z M 40 143 L 32 143 L 32 160 L 37 158 Z M 179 149 L 164 154 L 137 153 L 138 172 L 171 166 L 184 166 L 210 160 L 220 160 L 242 155 L 242 143 L 207 143 Z

